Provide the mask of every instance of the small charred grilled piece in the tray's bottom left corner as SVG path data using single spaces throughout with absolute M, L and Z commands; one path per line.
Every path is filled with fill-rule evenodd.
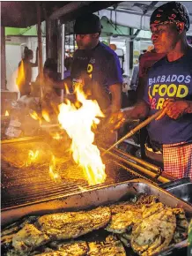
M 38 230 L 33 224 L 26 224 L 22 230 L 12 238 L 12 246 L 14 250 L 20 254 L 28 255 L 36 247 L 47 244 L 49 241 L 48 236 Z

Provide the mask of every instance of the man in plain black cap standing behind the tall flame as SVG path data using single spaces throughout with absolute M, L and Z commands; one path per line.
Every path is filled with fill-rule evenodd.
M 75 22 L 78 50 L 71 67 L 73 87 L 83 83 L 91 89 L 92 98 L 102 110 L 114 112 L 121 108 L 122 72 L 114 50 L 100 42 L 100 18 L 87 14 Z

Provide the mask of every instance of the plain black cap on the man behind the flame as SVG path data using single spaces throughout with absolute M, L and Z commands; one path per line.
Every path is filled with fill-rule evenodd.
M 85 14 L 76 19 L 74 34 L 94 34 L 101 32 L 100 17 L 95 14 Z

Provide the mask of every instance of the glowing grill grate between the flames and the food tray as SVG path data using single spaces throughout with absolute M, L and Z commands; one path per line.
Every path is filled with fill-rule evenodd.
M 71 162 L 68 166 L 65 164 L 63 168 L 60 167 L 61 179 L 57 182 L 49 176 L 46 164 L 18 169 L 2 162 L 2 209 L 58 199 L 64 195 L 136 178 L 113 160 L 107 160 L 106 165 L 106 182 L 91 186 L 77 165 Z

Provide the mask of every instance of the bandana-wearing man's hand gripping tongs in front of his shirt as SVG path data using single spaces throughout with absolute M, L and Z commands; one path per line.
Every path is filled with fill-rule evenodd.
M 166 115 L 173 119 L 181 117 L 188 109 L 188 102 L 181 100 L 168 99 L 163 104 L 163 110 L 161 115 L 156 119 L 159 120 Z

